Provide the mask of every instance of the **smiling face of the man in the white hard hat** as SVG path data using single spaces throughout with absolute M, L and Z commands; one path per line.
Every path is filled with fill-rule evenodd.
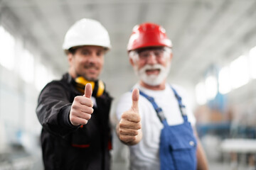
M 86 45 L 76 47 L 68 53 L 69 74 L 73 79 L 84 77 L 88 81 L 98 79 L 104 64 L 105 49 L 100 46 Z

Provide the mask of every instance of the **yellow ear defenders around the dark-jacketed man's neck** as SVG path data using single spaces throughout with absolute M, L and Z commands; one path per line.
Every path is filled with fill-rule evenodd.
M 92 96 L 100 97 L 102 96 L 104 90 L 105 90 L 105 85 L 103 81 L 98 80 L 98 81 L 87 81 L 84 77 L 77 77 L 75 79 L 76 84 L 76 89 L 80 91 L 81 93 L 85 93 L 85 85 L 87 83 L 90 83 L 92 85 Z

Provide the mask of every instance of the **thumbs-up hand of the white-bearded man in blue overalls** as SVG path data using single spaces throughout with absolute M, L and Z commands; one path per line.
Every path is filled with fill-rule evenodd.
M 117 125 L 119 139 L 127 145 L 135 145 L 142 139 L 142 124 L 139 115 L 139 89 L 132 91 L 132 107 L 122 113 Z

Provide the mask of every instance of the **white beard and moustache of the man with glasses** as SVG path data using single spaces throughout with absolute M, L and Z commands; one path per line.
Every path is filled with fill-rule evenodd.
M 147 69 L 160 69 L 160 72 L 158 75 L 156 74 L 147 75 L 146 74 Z M 170 69 L 171 69 L 171 62 L 169 62 L 166 65 L 166 67 L 162 66 L 161 64 L 154 64 L 153 66 L 146 64 L 144 67 L 142 67 L 142 69 L 139 69 L 139 70 L 137 69 L 137 67 L 135 67 L 134 71 L 139 77 L 139 79 L 141 79 L 145 84 L 148 84 L 150 86 L 157 86 L 166 79 L 166 77 L 170 72 Z

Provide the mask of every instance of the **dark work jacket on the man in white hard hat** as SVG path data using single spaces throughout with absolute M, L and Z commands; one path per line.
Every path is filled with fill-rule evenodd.
M 60 81 L 51 81 L 41 91 L 36 113 L 43 126 L 41 145 L 46 170 L 110 169 L 110 105 L 112 98 L 104 94 L 96 98 L 97 107 L 86 125 L 70 123 L 70 107 L 75 96 L 75 81 L 64 74 Z

